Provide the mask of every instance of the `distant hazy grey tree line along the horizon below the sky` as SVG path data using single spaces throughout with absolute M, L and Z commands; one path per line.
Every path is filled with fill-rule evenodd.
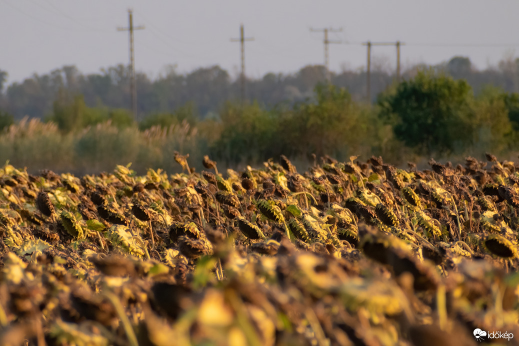
M 403 73 L 408 79 L 427 66 L 413 66 Z M 448 62 L 432 66 L 437 72 L 455 79 L 465 79 L 477 94 L 486 85 L 519 92 L 519 62 L 503 59 L 497 66 L 476 70 L 465 57 L 454 57 Z M 216 116 L 226 101 L 237 101 L 240 96 L 238 79 L 230 77 L 220 66 L 200 67 L 190 73 L 179 73 L 174 67 L 152 79 L 144 73 L 136 75 L 138 85 L 138 112 L 140 118 L 148 115 L 171 113 L 191 104 L 197 117 Z M 13 119 L 24 116 L 45 118 L 54 112 L 56 102 L 82 95 L 88 107 L 126 109 L 130 104 L 129 66 L 117 65 L 99 73 L 81 74 L 75 66 L 63 66 L 48 74 L 37 75 L 6 85 L 7 72 L 0 70 L 0 112 Z M 325 81 L 322 65 L 309 65 L 293 74 L 268 73 L 262 78 L 247 80 L 247 98 L 263 107 L 281 103 L 293 105 L 315 98 L 314 87 Z M 375 68 L 371 73 L 373 99 L 393 85 L 394 74 Z M 352 99 L 364 101 L 365 71 L 332 73 L 332 84 L 348 90 Z M 0 123 L 1 126 L 1 123 Z

